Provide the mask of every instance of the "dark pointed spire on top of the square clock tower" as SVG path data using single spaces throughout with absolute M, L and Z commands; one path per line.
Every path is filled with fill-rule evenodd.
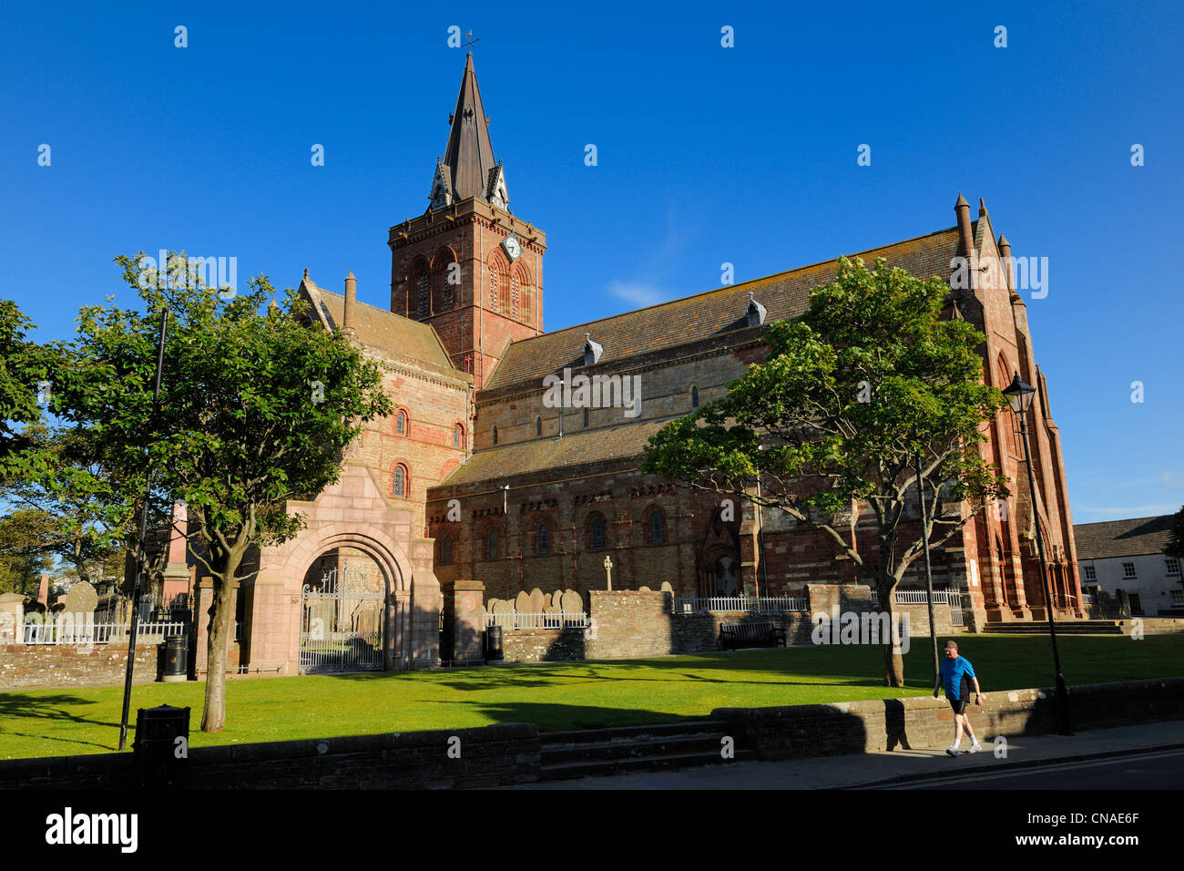
M 449 121 L 452 129 L 444 148 L 444 159 L 437 159 L 436 162 L 431 207 L 442 209 L 453 201 L 476 197 L 504 209 L 509 201 L 506 196 L 506 177 L 494 160 L 489 119 L 481 103 L 477 73 L 472 69 L 472 52 L 465 58 L 461 94 L 456 100 L 456 111 Z M 448 190 L 449 186 L 451 190 Z

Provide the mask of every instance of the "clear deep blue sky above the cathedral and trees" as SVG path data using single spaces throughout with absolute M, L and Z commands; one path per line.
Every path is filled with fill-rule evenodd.
M 65 338 L 130 303 L 116 254 L 184 248 L 278 287 L 352 269 L 385 306 L 387 229 L 426 206 L 461 81 L 450 25 L 547 232 L 547 328 L 951 226 L 961 191 L 1048 257 L 1028 312 L 1074 519 L 1184 502 L 1175 2 L 8 6 L 0 295 Z

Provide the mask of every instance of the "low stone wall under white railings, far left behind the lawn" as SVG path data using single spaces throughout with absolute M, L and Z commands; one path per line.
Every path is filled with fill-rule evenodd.
M 131 683 L 156 679 L 157 641 L 136 643 Z M 112 686 L 123 684 L 128 642 L 78 645 L 0 645 L 0 691 L 53 686 Z

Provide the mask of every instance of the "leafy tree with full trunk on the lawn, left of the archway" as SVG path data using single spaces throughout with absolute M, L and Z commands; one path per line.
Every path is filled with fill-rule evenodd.
M 288 500 L 337 481 L 345 448 L 392 406 L 378 365 L 346 335 L 307 326 L 295 290 L 269 307 L 262 275 L 245 293 L 217 293 L 187 277 L 184 254 L 169 255 L 169 281 L 142 271 L 140 256 L 116 262 L 144 310 L 82 310 L 53 408 L 90 431 L 122 486 L 150 463 L 159 489 L 187 504 L 191 551 L 213 578 L 201 729 L 215 732 L 226 719 L 232 594 L 252 574 L 244 556 L 297 533 L 303 518 Z M 154 414 L 162 307 L 170 316 Z

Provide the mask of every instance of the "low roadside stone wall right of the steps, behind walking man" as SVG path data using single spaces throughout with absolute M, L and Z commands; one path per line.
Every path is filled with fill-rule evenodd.
M 998 736 L 1056 731 L 1054 692 L 1000 690 L 970 709 L 984 747 Z M 1074 729 L 1111 729 L 1137 723 L 1184 719 L 1184 678 L 1090 684 L 1069 687 Z M 786 707 L 718 707 L 712 719 L 731 721 L 736 743 L 761 758 L 831 756 L 879 750 L 948 747 L 953 711 L 932 696 Z

